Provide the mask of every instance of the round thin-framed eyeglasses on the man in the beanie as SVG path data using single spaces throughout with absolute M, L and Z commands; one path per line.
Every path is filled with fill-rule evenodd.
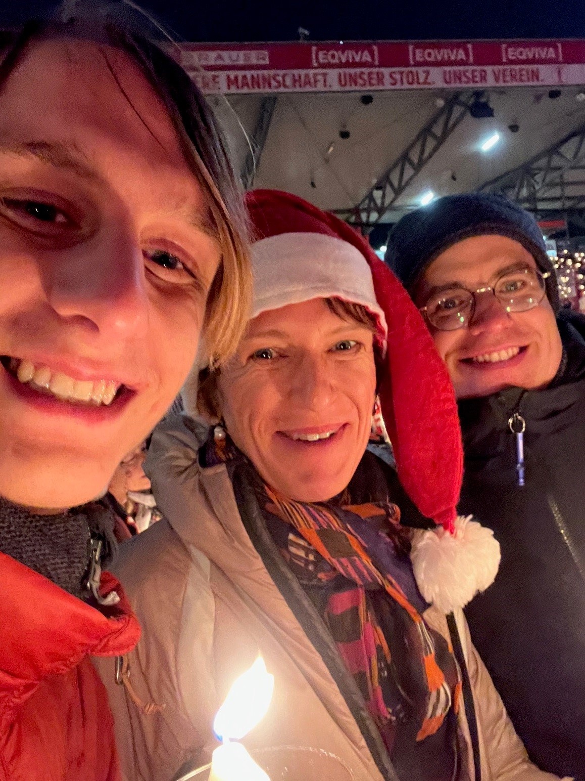
M 435 293 L 420 312 L 424 312 L 429 323 L 441 331 L 465 328 L 473 318 L 480 293 L 493 293 L 506 312 L 527 312 L 541 303 L 546 292 L 544 280 L 549 276 L 550 271 L 542 274 L 537 269 L 507 271 L 488 287 L 478 287 L 474 291 L 454 287 Z

